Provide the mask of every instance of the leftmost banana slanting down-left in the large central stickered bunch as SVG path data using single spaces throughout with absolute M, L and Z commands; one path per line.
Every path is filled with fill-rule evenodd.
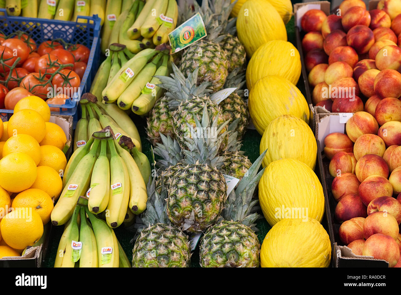
M 79 161 L 70 179 L 67 181 L 67 184 L 61 192 L 61 197 L 51 212 L 53 225 L 65 224 L 73 214 L 79 196 L 86 193 L 91 181 L 99 143 L 99 139 L 93 141 L 91 151 Z

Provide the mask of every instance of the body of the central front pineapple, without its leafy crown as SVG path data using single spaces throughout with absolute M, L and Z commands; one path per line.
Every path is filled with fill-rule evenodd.
M 179 228 L 201 232 L 217 222 L 227 199 L 224 175 L 207 164 L 179 169 L 169 179 L 167 216 Z

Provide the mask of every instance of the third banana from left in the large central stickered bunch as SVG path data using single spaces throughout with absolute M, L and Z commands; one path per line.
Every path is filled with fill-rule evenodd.
M 106 222 L 111 228 L 120 226 L 127 213 L 130 199 L 130 177 L 128 169 L 115 149 L 114 140 L 107 140 L 111 152 L 109 203 L 107 204 Z

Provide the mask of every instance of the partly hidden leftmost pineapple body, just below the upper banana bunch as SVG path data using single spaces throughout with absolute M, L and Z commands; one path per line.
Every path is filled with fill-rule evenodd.
M 156 143 L 162 143 L 160 133 L 170 135 L 174 138 L 173 130 L 173 111 L 170 110 L 167 98 L 162 96 L 156 101 L 150 116 L 147 118 L 146 133 L 150 142 L 155 146 Z

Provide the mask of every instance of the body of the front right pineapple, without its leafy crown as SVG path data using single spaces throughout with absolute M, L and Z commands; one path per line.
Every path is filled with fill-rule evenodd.
M 251 228 L 223 220 L 207 230 L 200 244 L 201 267 L 259 267 L 260 244 Z

